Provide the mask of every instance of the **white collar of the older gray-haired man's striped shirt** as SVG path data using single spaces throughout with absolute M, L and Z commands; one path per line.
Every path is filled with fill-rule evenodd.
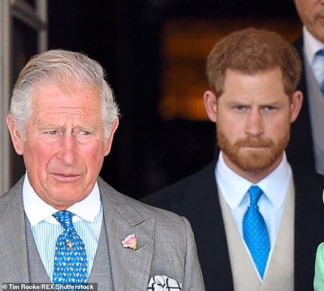
M 43 220 L 58 224 L 57 220 L 52 216 L 58 210 L 39 198 L 29 182 L 27 173 L 24 179 L 24 185 L 22 186 L 22 199 L 24 201 L 25 213 L 32 226 Z M 73 204 L 66 210 L 76 214 L 73 217 L 73 221 L 84 219 L 89 222 L 94 222 L 95 216 L 100 211 L 100 207 L 100 192 L 98 183 L 96 182 L 94 188 L 85 199 Z

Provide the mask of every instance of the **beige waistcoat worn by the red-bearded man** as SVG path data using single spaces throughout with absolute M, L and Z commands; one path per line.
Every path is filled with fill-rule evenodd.
M 294 290 L 295 191 L 292 180 L 289 183 L 285 209 L 263 282 L 259 279 L 257 269 L 245 248 L 232 213 L 218 188 L 235 291 Z

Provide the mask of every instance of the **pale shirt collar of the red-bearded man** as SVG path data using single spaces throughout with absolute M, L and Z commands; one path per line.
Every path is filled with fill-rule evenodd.
M 219 154 L 215 175 L 226 203 L 231 209 L 236 209 L 252 183 L 233 172 L 225 164 L 222 152 Z M 275 209 L 279 209 L 285 201 L 291 175 L 291 168 L 284 153 L 280 164 L 257 183 Z

